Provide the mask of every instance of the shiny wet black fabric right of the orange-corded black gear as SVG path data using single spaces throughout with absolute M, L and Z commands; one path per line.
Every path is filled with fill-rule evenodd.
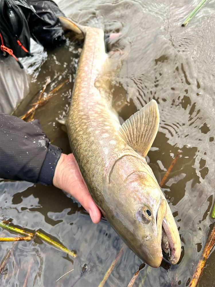
M 54 48 L 66 42 L 58 16 L 65 15 L 54 1 L 26 0 L 34 7 L 35 13 L 30 13 L 28 26 L 32 38 L 46 48 Z

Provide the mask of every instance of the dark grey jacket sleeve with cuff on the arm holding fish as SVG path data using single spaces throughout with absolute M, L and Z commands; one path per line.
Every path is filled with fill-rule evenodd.
M 25 122 L 0 113 L 0 177 L 51 185 L 62 150 L 52 144 L 38 120 Z

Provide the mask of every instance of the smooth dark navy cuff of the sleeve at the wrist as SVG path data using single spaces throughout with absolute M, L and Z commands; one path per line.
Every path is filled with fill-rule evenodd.
M 52 185 L 54 171 L 55 171 L 55 168 L 56 168 L 56 165 L 60 158 L 61 153 L 62 153 L 62 150 L 60 148 L 52 144 L 49 144 L 45 160 L 42 164 L 42 167 L 39 173 L 39 177 L 37 181 L 38 183 L 42 185 Z

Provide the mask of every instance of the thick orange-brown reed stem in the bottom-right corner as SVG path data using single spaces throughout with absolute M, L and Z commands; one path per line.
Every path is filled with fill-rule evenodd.
M 200 260 L 196 266 L 196 270 L 195 270 L 195 272 L 191 278 L 189 287 L 197 286 L 198 280 L 202 274 L 202 270 L 204 268 L 206 260 L 208 259 L 208 256 L 209 256 L 210 252 L 212 251 L 214 244 L 215 244 L 215 226 L 213 227 L 212 232 L 211 232 L 210 236 L 208 237 L 205 248 L 202 252 L 202 257 L 200 258 Z

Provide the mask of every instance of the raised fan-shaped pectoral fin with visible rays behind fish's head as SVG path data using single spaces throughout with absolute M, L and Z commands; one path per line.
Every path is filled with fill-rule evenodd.
M 151 100 L 138 112 L 130 116 L 118 132 L 129 146 L 146 157 L 157 135 L 159 120 L 157 102 Z

